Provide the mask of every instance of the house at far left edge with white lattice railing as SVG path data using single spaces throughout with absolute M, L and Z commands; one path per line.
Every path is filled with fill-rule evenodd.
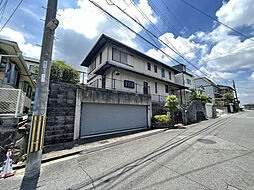
M 35 84 L 16 42 L 0 39 L 0 56 L 0 116 L 18 116 L 30 108 Z

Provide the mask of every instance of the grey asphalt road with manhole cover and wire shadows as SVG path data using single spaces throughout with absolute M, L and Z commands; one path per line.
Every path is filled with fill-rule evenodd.
M 44 164 L 0 189 L 254 189 L 254 111 Z

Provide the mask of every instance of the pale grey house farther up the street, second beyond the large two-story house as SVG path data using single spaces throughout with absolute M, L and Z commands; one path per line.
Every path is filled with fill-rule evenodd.
M 215 99 L 219 97 L 220 93 L 218 86 L 214 82 L 206 77 L 200 77 L 195 78 L 194 83 L 196 89 L 202 89 L 202 94 L 209 96 L 212 102 L 216 103 Z

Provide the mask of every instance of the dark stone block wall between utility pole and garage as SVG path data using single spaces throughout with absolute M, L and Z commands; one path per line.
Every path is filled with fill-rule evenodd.
M 78 85 L 51 83 L 44 145 L 73 141 Z

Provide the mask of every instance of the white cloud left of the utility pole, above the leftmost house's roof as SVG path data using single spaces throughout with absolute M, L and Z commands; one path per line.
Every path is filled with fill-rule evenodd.
M 41 48 L 34 46 L 31 43 L 27 43 L 24 36 L 11 28 L 4 28 L 0 34 L 4 39 L 17 42 L 20 50 L 23 52 L 24 56 L 39 58 L 41 53 Z

